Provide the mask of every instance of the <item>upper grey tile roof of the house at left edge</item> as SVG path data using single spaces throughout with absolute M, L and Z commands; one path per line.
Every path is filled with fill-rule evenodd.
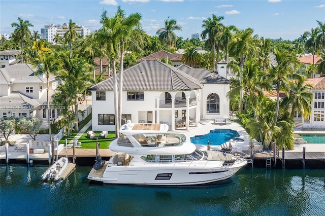
M 0 83 L 10 83 L 14 79 L 14 83 L 46 83 L 46 77 L 41 75 L 34 76 L 36 68 L 31 64 L 14 64 L 9 67 L 0 69 Z M 50 75 L 49 81 L 55 79 L 54 75 Z

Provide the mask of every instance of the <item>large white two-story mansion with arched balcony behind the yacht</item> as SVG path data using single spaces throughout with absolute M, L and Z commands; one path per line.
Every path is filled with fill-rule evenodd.
M 171 130 L 198 125 L 202 119 L 228 119 L 230 81 L 226 64 L 219 74 L 186 65 L 173 67 L 146 60 L 123 71 L 122 119 L 166 123 Z M 119 74 L 117 74 L 117 80 Z M 115 131 L 113 77 L 89 88 L 92 92 L 92 129 Z M 123 122 L 123 121 L 122 121 Z

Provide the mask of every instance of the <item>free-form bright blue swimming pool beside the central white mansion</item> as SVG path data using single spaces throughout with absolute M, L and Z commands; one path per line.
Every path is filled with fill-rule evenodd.
M 210 133 L 191 137 L 191 142 L 198 145 L 207 145 L 208 139 L 211 146 L 221 145 L 230 139 L 239 137 L 239 133 L 232 129 L 214 129 Z

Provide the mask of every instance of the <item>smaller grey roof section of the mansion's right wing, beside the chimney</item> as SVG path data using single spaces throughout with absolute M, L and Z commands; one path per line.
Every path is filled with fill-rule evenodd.
M 197 79 L 201 83 L 213 83 L 213 84 L 230 84 L 231 81 L 227 80 L 220 75 L 208 70 L 206 68 L 193 68 L 188 65 L 182 64 L 177 66 L 178 69 L 184 71 L 184 73 Z

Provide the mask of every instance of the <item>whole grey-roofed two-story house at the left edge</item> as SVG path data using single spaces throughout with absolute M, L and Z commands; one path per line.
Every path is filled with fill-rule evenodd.
M 14 64 L 0 69 L 0 117 L 37 117 L 47 127 L 47 79 L 35 76 L 30 64 Z M 52 98 L 58 81 L 49 78 L 49 98 Z M 50 119 L 58 117 L 58 110 L 51 107 Z

